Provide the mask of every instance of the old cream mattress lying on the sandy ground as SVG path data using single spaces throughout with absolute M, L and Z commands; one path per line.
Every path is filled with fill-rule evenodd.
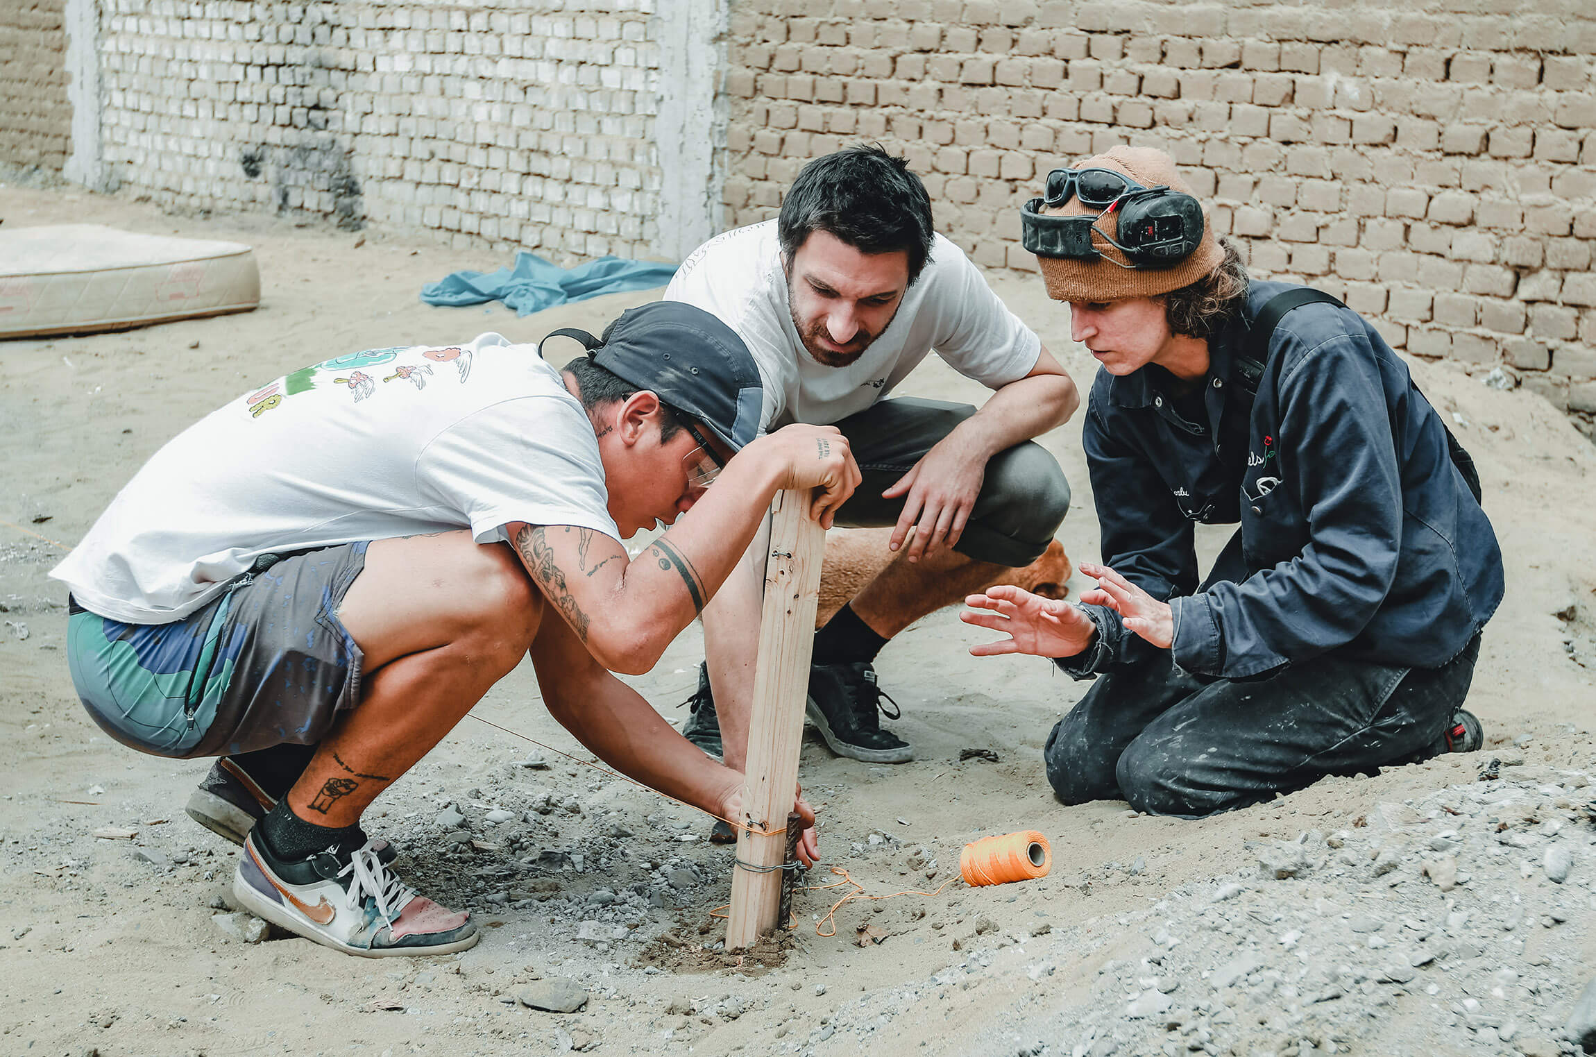
M 241 243 L 97 224 L 0 227 L 0 338 L 117 331 L 259 303 L 255 254 Z

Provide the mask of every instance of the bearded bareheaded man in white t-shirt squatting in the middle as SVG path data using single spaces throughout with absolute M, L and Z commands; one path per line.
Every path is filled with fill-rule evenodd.
M 701 246 L 666 299 L 715 313 L 747 343 L 764 382 L 761 430 L 833 423 L 849 437 L 863 484 L 838 524 L 895 525 L 894 551 L 908 541 L 816 634 L 809 719 L 843 755 L 913 758 L 881 730 L 871 661 L 919 616 L 1047 549 L 1069 485 L 1031 437 L 1069 418 L 1074 383 L 964 252 L 935 235 L 919 177 L 879 147 L 806 164 L 777 220 Z M 980 410 L 883 399 L 932 351 L 993 398 Z M 763 583 L 753 554 L 704 612 L 707 663 L 683 730 L 729 766 L 747 746 Z

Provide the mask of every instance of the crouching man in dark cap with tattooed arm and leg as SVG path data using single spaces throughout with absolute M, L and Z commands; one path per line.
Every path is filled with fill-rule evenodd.
M 709 313 L 557 334 L 591 350 L 563 375 L 485 334 L 278 378 L 156 452 L 54 570 L 94 720 L 220 757 L 188 811 L 243 845 L 233 894 L 259 916 L 356 955 L 476 944 L 359 822 L 528 651 L 584 746 L 737 817 L 742 776 L 606 669 L 653 667 L 777 489 L 816 489 L 828 524 L 859 468 L 836 430 L 757 436 L 760 375 Z M 621 540 L 656 521 L 630 562 Z

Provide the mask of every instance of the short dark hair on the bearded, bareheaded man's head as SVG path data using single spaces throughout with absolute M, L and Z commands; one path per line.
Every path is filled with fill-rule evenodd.
M 806 164 L 782 200 L 776 235 L 792 262 L 816 232 L 862 254 L 908 254 L 908 281 L 930 260 L 930 195 L 908 161 L 879 144 L 857 144 Z

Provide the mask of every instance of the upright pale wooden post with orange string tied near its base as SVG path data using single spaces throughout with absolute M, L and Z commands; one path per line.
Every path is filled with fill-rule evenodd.
M 820 562 L 825 559 L 825 530 L 809 519 L 811 501 L 806 490 L 777 492 L 771 505 L 771 549 L 764 564 L 764 608 L 760 613 L 760 655 L 739 819 L 757 830 L 787 825 L 798 782 L 814 610 L 820 592 Z M 739 861 L 753 867 L 779 867 L 785 857 L 784 833 L 737 832 Z M 782 875 L 782 870 L 733 867 L 726 950 L 752 947 L 777 926 Z

